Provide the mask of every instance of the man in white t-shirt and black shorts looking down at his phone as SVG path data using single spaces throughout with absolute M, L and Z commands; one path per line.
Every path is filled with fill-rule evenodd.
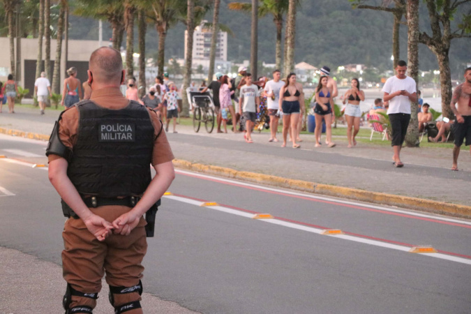
M 408 131 L 410 121 L 410 103 L 417 101 L 417 88 L 414 79 L 405 75 L 408 64 L 400 60 L 396 66 L 396 75 L 389 77 L 384 83 L 384 102 L 389 101 L 387 114 L 391 122 L 392 140 L 391 146 L 394 150 L 394 165 L 404 167 L 401 162 L 401 148 Z

